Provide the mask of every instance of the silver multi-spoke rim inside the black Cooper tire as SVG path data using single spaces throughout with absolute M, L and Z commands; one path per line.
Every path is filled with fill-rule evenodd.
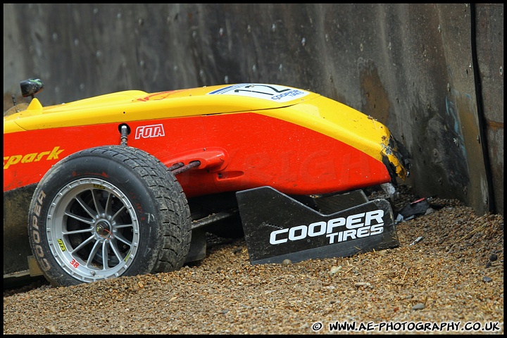
M 139 249 L 139 220 L 130 200 L 96 178 L 75 180 L 56 194 L 46 231 L 57 263 L 81 282 L 123 275 Z

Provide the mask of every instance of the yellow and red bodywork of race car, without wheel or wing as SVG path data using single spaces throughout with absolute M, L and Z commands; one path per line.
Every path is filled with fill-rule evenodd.
M 382 123 L 302 89 L 236 84 L 126 91 L 47 107 L 32 99 L 4 118 L 4 192 L 39 182 L 76 151 L 120 144 L 123 124 L 128 146 L 168 167 L 200 161 L 177 175 L 188 197 L 261 186 L 324 194 L 407 175 Z

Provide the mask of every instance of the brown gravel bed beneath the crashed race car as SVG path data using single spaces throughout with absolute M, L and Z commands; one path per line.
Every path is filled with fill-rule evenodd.
M 418 199 L 402 188 L 395 215 Z M 488 333 L 503 334 L 503 217 L 427 200 L 432 213 L 396 225 L 394 249 L 251 265 L 242 238 L 171 273 L 4 289 L 4 334 L 328 334 L 344 322 L 499 323 Z M 389 331 L 403 332 L 415 333 Z

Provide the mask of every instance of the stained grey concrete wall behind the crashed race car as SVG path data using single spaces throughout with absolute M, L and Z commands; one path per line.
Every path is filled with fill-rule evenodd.
M 28 77 L 43 80 L 44 105 L 309 89 L 386 124 L 421 196 L 503 215 L 503 4 L 4 4 L 4 111 Z

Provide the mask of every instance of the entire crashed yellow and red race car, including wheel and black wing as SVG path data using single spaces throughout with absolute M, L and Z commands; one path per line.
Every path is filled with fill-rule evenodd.
M 349 106 L 257 83 L 42 106 L 42 88 L 21 82 L 30 104 L 4 114 L 4 280 L 177 270 L 205 258 L 208 232 L 244 234 L 252 263 L 353 254 L 382 232 L 375 249 L 395 245 L 389 205 L 357 192 L 404 180 L 406 154 Z

